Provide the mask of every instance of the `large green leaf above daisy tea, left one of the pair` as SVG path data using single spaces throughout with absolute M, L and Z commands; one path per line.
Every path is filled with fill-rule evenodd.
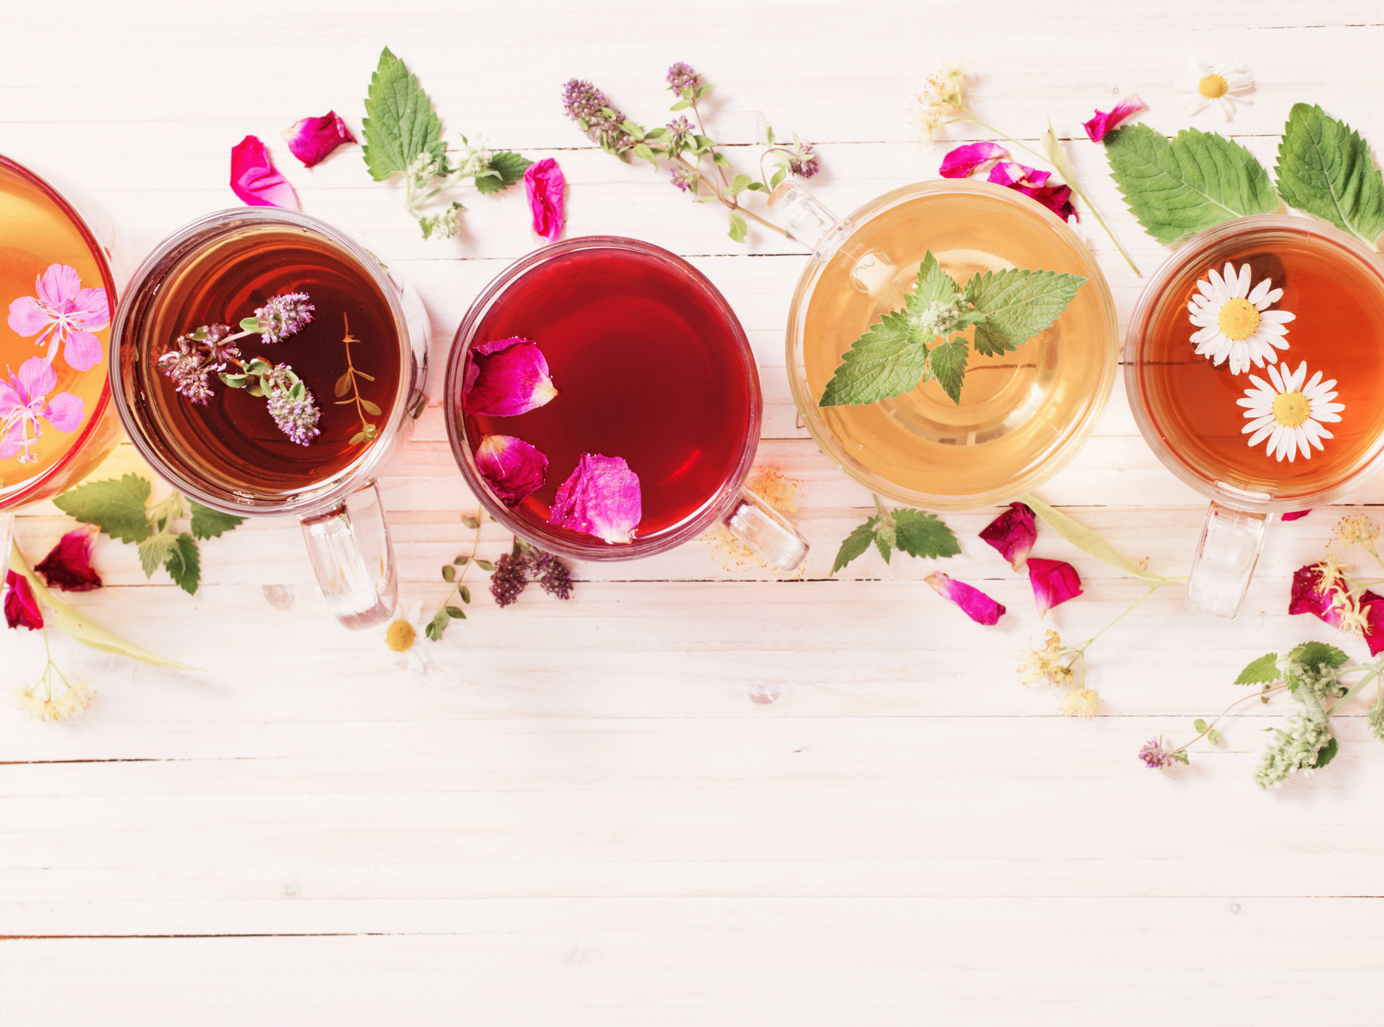
M 1127 125 L 1106 136 L 1106 156 L 1131 213 L 1167 246 L 1279 208 L 1269 173 L 1223 136 L 1183 129 L 1169 141 L 1147 125 Z

